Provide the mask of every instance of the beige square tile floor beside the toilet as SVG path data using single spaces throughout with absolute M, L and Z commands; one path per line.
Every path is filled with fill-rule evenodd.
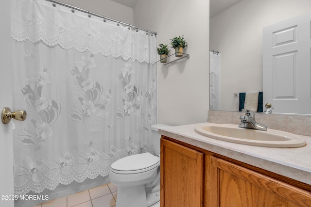
M 118 186 L 108 183 L 67 197 L 55 199 L 35 207 L 115 207 Z

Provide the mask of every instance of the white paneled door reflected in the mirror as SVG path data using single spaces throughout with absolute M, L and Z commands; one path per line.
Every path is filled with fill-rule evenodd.
M 263 104 L 311 114 L 311 13 L 263 28 Z

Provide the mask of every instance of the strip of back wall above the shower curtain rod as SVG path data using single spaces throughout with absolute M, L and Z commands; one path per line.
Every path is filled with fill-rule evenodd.
M 133 9 L 111 0 L 58 0 L 98 15 L 133 25 Z

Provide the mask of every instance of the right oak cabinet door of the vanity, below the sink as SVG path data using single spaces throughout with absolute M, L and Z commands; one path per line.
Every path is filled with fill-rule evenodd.
M 206 156 L 206 207 L 311 207 L 311 193 Z

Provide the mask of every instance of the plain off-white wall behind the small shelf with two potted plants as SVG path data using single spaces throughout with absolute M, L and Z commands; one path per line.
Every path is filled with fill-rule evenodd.
M 134 24 L 157 32 L 159 44 L 184 35 L 190 59 L 157 64 L 158 123 L 207 121 L 209 109 L 209 0 L 139 0 Z M 171 54 L 173 54 L 173 48 Z

